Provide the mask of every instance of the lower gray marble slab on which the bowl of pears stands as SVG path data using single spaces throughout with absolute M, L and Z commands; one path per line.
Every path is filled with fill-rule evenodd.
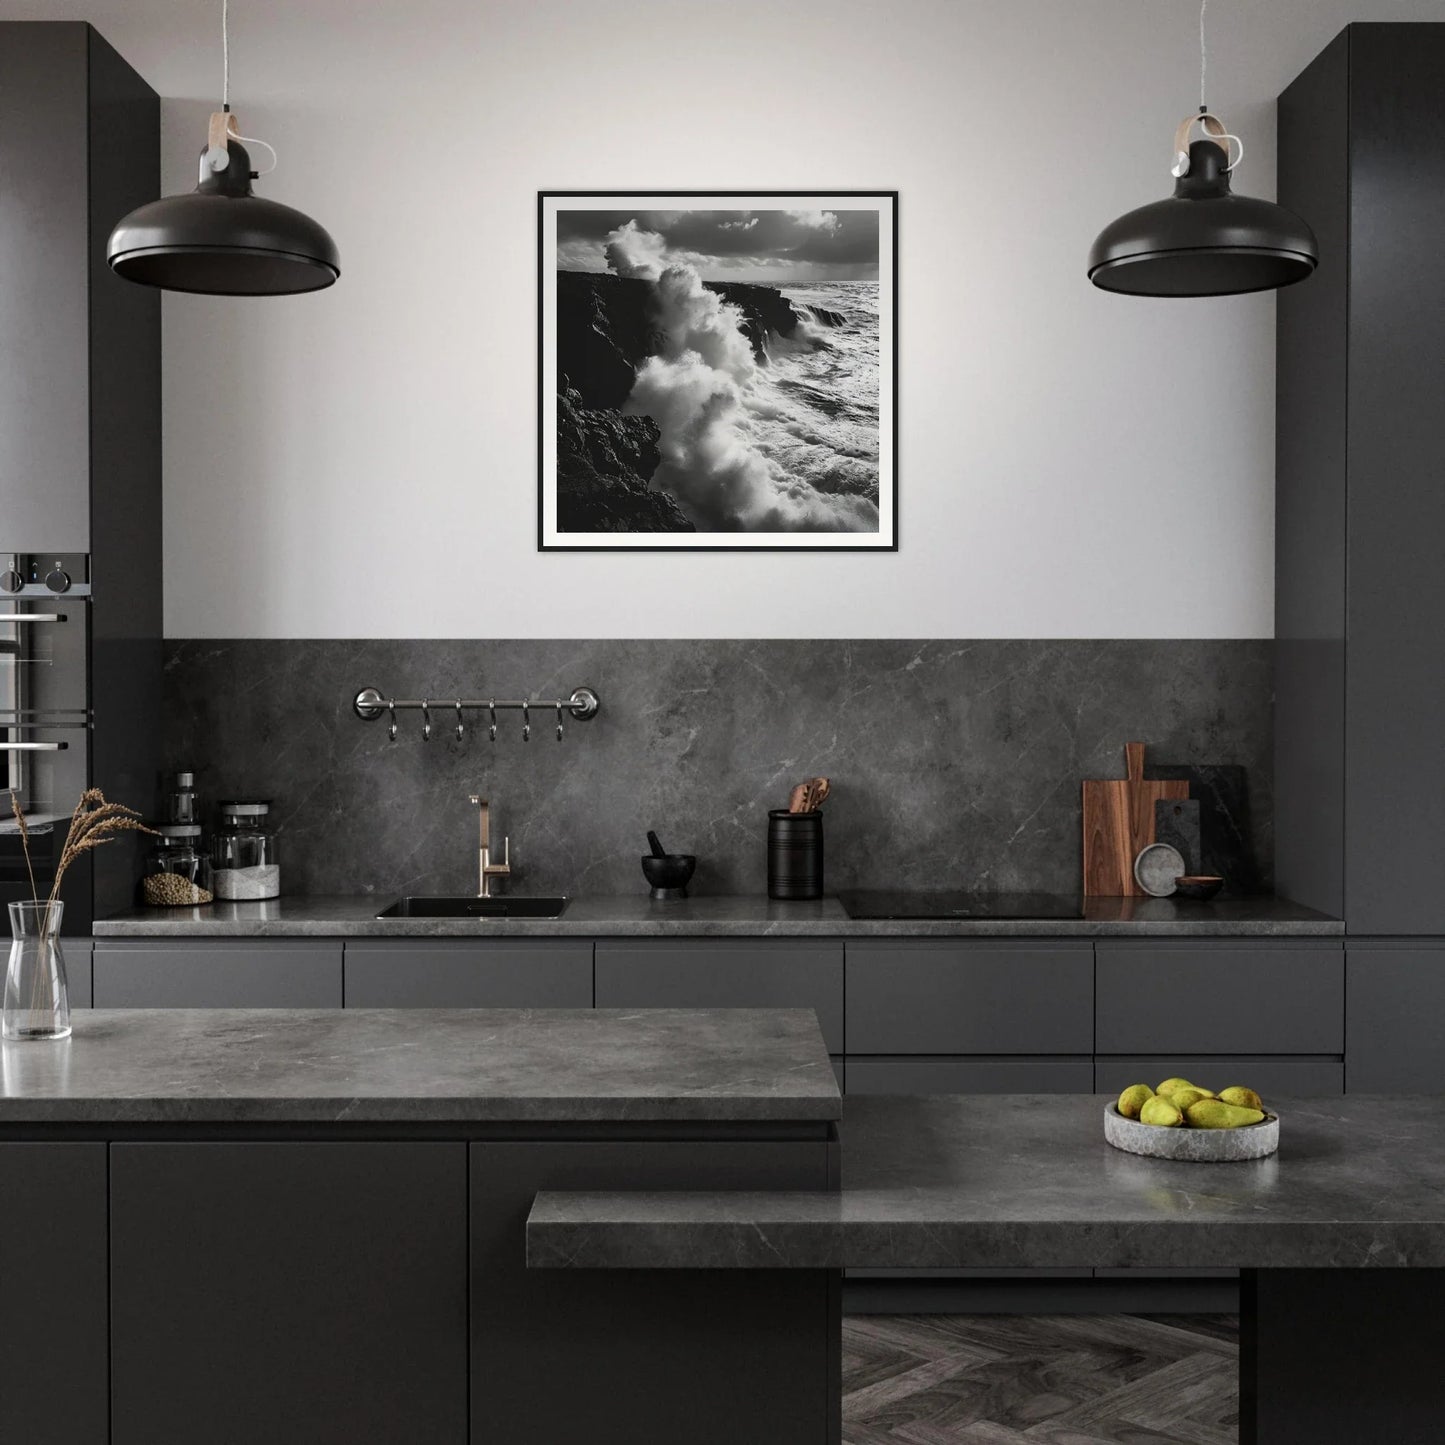
M 540 1194 L 532 1267 L 1445 1266 L 1436 1098 L 1276 1101 L 1280 1149 L 1170 1163 L 1091 1095 L 848 1098 L 841 1194 Z

